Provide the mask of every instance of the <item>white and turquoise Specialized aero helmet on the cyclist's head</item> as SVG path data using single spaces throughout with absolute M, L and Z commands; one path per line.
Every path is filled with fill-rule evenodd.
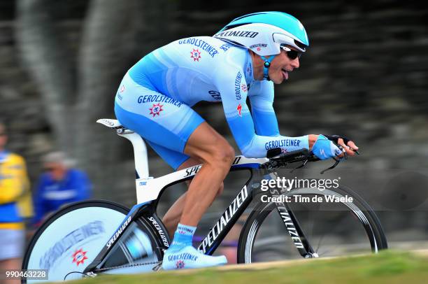
M 274 55 L 280 54 L 281 48 L 290 51 L 290 48 L 286 48 L 286 45 L 290 45 L 299 52 L 305 52 L 309 45 L 303 24 L 283 12 L 259 12 L 237 17 L 214 37 L 248 48 L 260 55 L 265 61 L 266 79 L 267 69 Z

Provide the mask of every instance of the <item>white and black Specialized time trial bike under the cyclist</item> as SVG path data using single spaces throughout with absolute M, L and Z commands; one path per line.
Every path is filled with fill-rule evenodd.
M 191 180 L 202 166 L 152 178 L 141 136 L 117 120 L 97 122 L 115 129 L 134 147 L 137 204 L 129 209 L 113 201 L 80 201 L 45 220 L 29 243 L 22 269 L 47 269 L 48 281 L 161 269 L 171 239 L 157 216 L 159 197 L 167 187 Z M 246 221 L 238 239 L 239 263 L 378 253 L 387 248 L 376 213 L 347 187 L 263 187 L 266 180 L 278 178 L 278 169 L 316 160 L 308 150 L 280 153 L 274 149 L 262 159 L 236 156 L 231 171 L 247 171 L 248 180 L 198 250 L 213 255 L 241 215 Z

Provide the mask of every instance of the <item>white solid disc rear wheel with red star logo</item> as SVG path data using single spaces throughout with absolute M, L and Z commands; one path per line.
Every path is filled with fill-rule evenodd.
M 106 246 L 128 212 L 129 208 L 101 200 L 82 201 L 62 208 L 34 234 L 22 269 L 48 269 L 48 281 L 82 278 L 81 272 Z M 104 267 L 158 261 L 160 252 L 153 238 L 143 222 L 132 222 L 110 250 Z M 45 281 L 24 280 L 23 283 Z

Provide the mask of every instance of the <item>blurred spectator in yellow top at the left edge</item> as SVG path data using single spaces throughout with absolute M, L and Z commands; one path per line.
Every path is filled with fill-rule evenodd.
M 0 270 L 21 268 L 25 243 L 23 221 L 32 214 L 24 159 L 6 151 L 6 142 L 6 125 L 0 121 Z

